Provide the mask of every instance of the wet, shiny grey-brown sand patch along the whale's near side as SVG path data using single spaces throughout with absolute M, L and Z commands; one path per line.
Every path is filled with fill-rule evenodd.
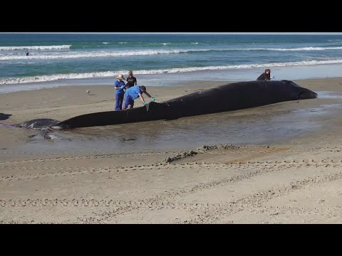
M 280 102 L 175 120 L 78 128 L 52 132 L 52 139 L 44 139 L 43 134 L 36 132 L 22 150 L 105 154 L 194 149 L 204 144 L 276 144 L 331 125 L 324 120 L 341 108 L 342 94 L 322 91 L 314 100 Z

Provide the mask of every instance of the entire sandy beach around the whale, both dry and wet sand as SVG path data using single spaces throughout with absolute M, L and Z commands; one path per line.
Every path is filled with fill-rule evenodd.
M 56 141 L 2 125 L 0 223 L 341 223 L 342 78 L 294 82 L 318 98 Z M 222 84 L 147 91 L 161 102 Z M 0 94 L 0 113 L 11 114 L 0 123 L 110 111 L 114 99 L 112 85 Z

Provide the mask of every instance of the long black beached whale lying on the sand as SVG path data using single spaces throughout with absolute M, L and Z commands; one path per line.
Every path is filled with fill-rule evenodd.
M 289 80 L 234 82 L 165 102 L 150 102 L 143 107 L 128 110 L 82 114 L 62 122 L 43 120 L 46 124 L 51 122 L 49 127 L 53 129 L 95 127 L 157 119 L 177 119 L 316 97 L 316 92 Z M 32 127 L 40 127 L 42 124 L 43 122 L 35 122 Z

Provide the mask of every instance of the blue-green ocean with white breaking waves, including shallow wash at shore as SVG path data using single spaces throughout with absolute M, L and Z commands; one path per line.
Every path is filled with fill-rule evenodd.
M 26 50 L 29 55 L 26 56 Z M 342 33 L 0 33 L 0 93 L 61 85 L 139 85 L 342 77 Z

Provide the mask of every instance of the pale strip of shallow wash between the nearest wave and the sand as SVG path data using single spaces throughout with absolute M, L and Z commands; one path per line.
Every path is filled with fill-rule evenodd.
M 276 80 L 312 80 L 326 78 L 342 78 L 342 64 L 306 65 L 306 66 L 284 66 L 269 67 L 271 76 Z M 264 71 L 264 68 L 239 68 L 222 70 L 198 70 L 187 73 L 165 73 L 165 74 L 142 74 L 135 75 L 139 85 L 145 86 L 175 86 L 179 87 L 185 83 L 199 82 L 241 82 L 256 80 Z M 291 77 L 291 79 L 289 79 Z M 83 78 L 62 79 L 42 82 L 15 83 L 0 85 L 0 94 L 21 91 L 40 90 L 42 88 L 81 86 L 81 85 L 113 85 L 115 77 L 108 78 Z

